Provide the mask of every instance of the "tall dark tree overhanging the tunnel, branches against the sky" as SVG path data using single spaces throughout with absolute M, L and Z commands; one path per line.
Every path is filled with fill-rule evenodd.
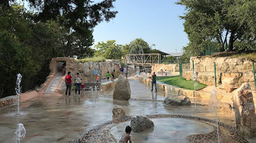
M 36 23 L 54 21 L 55 29 L 60 37 L 62 56 L 78 56 L 83 58 L 88 55 L 88 49 L 93 45 L 93 28 L 102 21 L 115 18 L 113 3 L 115 0 L 93 2 L 90 0 L 28 0 L 30 8 L 36 13 L 31 15 Z M 0 5 L 9 8 L 13 0 L 3 0 Z M 53 25 L 52 25 L 53 26 Z

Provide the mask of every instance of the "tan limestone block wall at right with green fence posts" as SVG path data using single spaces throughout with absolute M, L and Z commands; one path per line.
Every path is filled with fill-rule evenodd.
M 191 57 L 190 70 L 183 72 L 183 78 L 192 79 L 194 70 L 198 72 L 198 81 L 206 85 L 214 85 L 214 62 L 216 63 L 216 81 L 222 89 L 231 92 L 243 83 L 249 83 L 254 89 L 253 67 L 249 58 L 231 57 Z

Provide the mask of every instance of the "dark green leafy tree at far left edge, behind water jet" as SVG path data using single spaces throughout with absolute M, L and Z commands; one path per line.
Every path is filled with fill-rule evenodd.
M 23 91 L 33 85 L 31 78 L 38 74 L 40 61 L 33 59 L 36 52 L 27 44 L 30 38 L 33 38 L 33 30 L 23 7 L 1 7 L 0 12 L 0 97 L 5 97 L 15 94 L 14 86 L 18 73 L 23 75 Z

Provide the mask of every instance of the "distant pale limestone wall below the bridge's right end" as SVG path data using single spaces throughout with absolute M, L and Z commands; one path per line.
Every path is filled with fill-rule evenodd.
M 161 69 L 167 70 L 168 73 L 179 72 L 178 64 L 154 64 L 152 65 L 152 71 L 160 72 Z

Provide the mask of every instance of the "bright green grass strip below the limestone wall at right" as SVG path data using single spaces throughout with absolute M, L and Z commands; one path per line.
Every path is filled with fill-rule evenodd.
M 180 78 L 180 76 L 158 76 L 157 81 L 160 81 L 164 84 L 177 86 L 183 89 L 194 90 L 194 81 L 182 79 Z M 198 82 L 196 90 L 206 86 L 207 85 Z

